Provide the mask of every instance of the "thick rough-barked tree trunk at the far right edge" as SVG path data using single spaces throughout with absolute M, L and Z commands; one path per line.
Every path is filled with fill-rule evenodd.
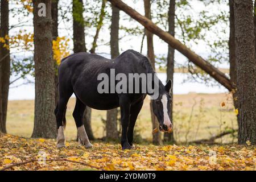
M 237 53 L 238 143 L 256 144 L 256 60 L 253 1 L 235 0 Z

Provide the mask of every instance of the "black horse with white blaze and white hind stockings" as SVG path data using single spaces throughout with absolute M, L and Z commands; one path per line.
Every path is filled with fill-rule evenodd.
M 131 73 L 137 73 L 140 76 L 142 74 L 150 76 L 146 77 L 146 84 L 145 80 L 142 80 L 143 77 L 133 77 L 132 81 L 129 80 L 126 88 L 124 85 L 121 86 L 121 89 L 125 90 L 124 92 L 117 92 L 111 86 L 115 88 L 118 82 L 121 81 L 113 81 L 111 70 L 115 71 L 115 75 L 121 73 L 122 76 L 127 77 Z M 110 89 L 112 92 L 99 92 L 99 85 L 102 84 L 102 81 L 99 80 L 101 73 L 110 77 L 110 80 L 107 80 L 110 83 L 109 86 L 107 85 L 108 88 L 102 88 Z M 143 92 L 143 85 L 148 86 L 150 77 L 152 78 L 150 84 L 153 85 L 154 92 L 149 92 L 148 89 L 146 92 Z M 122 149 L 130 149 L 133 146 L 134 125 L 139 111 L 141 111 L 144 98 L 147 94 L 153 96 L 156 93 L 156 89 L 158 94 L 152 100 L 152 110 L 158 118 L 160 131 L 170 131 L 172 123 L 169 115 L 172 98 L 169 92 L 172 82 L 169 80 L 166 86 L 164 86 L 159 79 L 154 80 L 153 77 L 155 77 L 155 72 L 148 58 L 133 50 L 125 51 L 115 59 L 106 59 L 100 55 L 85 52 L 75 53 L 65 57 L 61 60 L 59 66 L 59 101 L 55 109 L 58 130 L 57 147 L 65 147 L 63 132 L 63 125 L 65 126 L 65 110 L 68 100 L 73 93 L 76 96 L 73 117 L 75 118 L 79 134 L 79 142 L 86 148 L 92 147 L 82 123 L 82 116 L 86 106 L 98 110 L 109 110 L 120 106 L 122 125 L 121 145 Z M 122 77 L 122 81 L 125 81 L 125 78 Z M 129 89 L 130 84 L 136 82 L 141 87 L 137 92 L 135 86 Z M 126 92 L 128 90 L 132 92 Z

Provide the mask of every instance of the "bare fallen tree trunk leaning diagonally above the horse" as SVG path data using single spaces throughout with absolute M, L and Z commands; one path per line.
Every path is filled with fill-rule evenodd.
M 159 36 L 160 39 L 163 39 L 166 43 L 168 43 L 172 48 L 177 49 L 180 53 L 186 56 L 189 61 L 203 69 L 206 73 L 208 73 L 211 77 L 213 77 L 216 81 L 218 81 L 221 85 L 225 86 L 229 91 L 232 90 L 232 84 L 228 77 L 225 76 L 224 73 L 219 71 L 217 68 L 213 67 L 210 63 L 205 61 L 202 57 L 197 55 L 195 52 L 191 51 L 188 47 L 183 45 L 179 40 L 175 39 L 174 36 L 169 34 L 168 32 L 163 31 L 161 28 L 156 26 L 150 19 L 142 16 L 137 11 L 133 10 L 131 7 L 127 6 L 120 0 L 108 0 L 114 6 L 118 7 L 120 10 L 125 11 L 132 18 L 141 23 L 148 31 L 153 34 Z

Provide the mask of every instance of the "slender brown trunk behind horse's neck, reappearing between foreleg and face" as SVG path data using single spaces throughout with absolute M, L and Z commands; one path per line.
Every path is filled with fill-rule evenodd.
M 148 19 L 151 19 L 151 3 L 150 0 L 144 0 L 144 11 L 145 11 L 145 16 Z M 148 31 L 145 30 L 146 36 L 147 36 L 147 56 L 148 59 L 150 59 L 151 61 L 151 65 L 152 67 L 155 69 L 155 53 L 154 53 L 154 44 L 153 44 L 153 34 Z M 155 117 L 155 114 L 153 113 L 152 110 L 152 100 L 150 102 L 150 113 L 151 113 L 151 122 L 152 122 L 152 128 L 158 128 L 159 127 L 159 123 Z M 154 133 L 153 135 L 153 143 L 154 144 L 161 144 L 162 140 L 161 140 L 161 133 Z

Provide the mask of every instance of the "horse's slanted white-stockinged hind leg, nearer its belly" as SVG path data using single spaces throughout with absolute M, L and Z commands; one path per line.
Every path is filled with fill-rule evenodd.
M 76 122 L 76 127 L 79 135 L 79 143 L 82 146 L 85 146 L 85 148 L 92 147 L 92 144 L 90 143 L 88 136 L 86 134 L 84 124 L 82 123 L 82 117 L 84 115 L 86 105 L 84 105 L 79 98 L 76 98 L 76 106 L 75 110 L 73 111 L 73 117 Z

